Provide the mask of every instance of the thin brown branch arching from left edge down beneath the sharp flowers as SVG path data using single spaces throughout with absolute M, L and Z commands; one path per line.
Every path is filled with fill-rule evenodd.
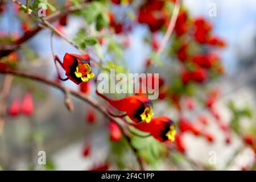
M 108 110 L 105 109 L 105 107 L 102 106 L 102 104 L 100 102 L 98 102 L 95 98 L 90 97 L 90 96 L 88 96 L 84 93 L 81 93 L 81 92 L 77 91 L 77 90 L 70 89 L 70 88 L 60 84 L 59 82 L 49 80 L 48 78 L 43 77 L 43 76 L 34 75 L 32 73 L 22 72 L 22 71 L 18 71 L 18 70 L 7 70 L 7 69 L 0 70 L 0 73 L 2 73 L 2 74 L 11 74 L 11 75 L 15 75 L 15 76 L 28 78 L 30 80 L 35 80 L 35 81 L 42 82 L 42 83 L 47 84 L 49 86 L 60 89 L 64 93 L 70 93 L 72 96 L 75 96 L 75 97 L 79 98 L 80 100 L 85 101 L 88 104 L 90 104 L 91 106 L 93 106 L 95 109 L 100 111 L 100 113 L 104 114 L 107 118 L 109 118 L 110 120 L 117 123 L 117 125 L 120 127 L 123 135 L 125 136 L 127 142 L 129 143 L 129 146 L 131 147 L 131 150 L 133 150 L 134 155 L 137 158 L 139 168 L 141 170 L 144 170 L 142 160 L 139 158 L 139 155 L 137 154 L 136 148 L 134 148 L 133 145 L 131 144 L 131 139 L 129 137 L 129 134 L 127 133 L 127 131 L 122 126 L 122 124 L 123 124 L 122 120 L 120 118 L 115 118 L 115 117 L 112 117 L 111 115 L 109 115 Z

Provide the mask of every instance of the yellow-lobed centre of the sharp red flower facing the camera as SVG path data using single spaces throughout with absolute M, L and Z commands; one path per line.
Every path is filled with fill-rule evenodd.
M 86 82 L 94 77 L 94 73 L 91 73 L 90 65 L 87 63 L 82 63 L 77 65 L 75 75 L 77 78 L 81 78 L 82 81 Z

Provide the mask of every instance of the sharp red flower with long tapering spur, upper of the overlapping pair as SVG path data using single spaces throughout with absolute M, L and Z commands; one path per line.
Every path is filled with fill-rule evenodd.
M 122 98 L 121 100 L 111 100 L 101 93 L 98 93 L 97 90 L 96 93 L 116 109 L 126 112 L 127 116 L 136 123 L 142 121 L 148 123 L 154 115 L 152 112 L 152 102 L 148 100 L 146 96 L 133 95 Z

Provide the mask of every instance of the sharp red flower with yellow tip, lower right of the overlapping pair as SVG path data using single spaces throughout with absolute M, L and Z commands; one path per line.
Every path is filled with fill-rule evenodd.
M 172 142 L 175 140 L 175 125 L 171 119 L 167 117 L 154 117 L 151 119 L 150 123 L 141 122 L 138 124 L 131 124 L 136 129 L 150 133 L 155 139 L 160 142 L 165 142 L 167 140 L 171 140 Z

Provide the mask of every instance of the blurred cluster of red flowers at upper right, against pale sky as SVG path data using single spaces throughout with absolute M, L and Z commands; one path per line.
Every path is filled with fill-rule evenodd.
M 177 59 L 184 64 L 181 72 L 181 80 L 184 84 L 189 81 L 204 82 L 208 80 L 209 72 L 214 71 L 217 75 L 223 72 L 218 55 L 214 52 L 192 51 L 195 45 L 201 47 L 215 46 L 225 47 L 224 40 L 212 35 L 212 25 L 204 18 L 188 19 L 187 12 L 181 11 L 175 25 L 176 38 L 182 44 L 175 47 Z M 187 67 L 189 64 L 189 67 Z M 192 67 L 191 67 L 192 65 Z

